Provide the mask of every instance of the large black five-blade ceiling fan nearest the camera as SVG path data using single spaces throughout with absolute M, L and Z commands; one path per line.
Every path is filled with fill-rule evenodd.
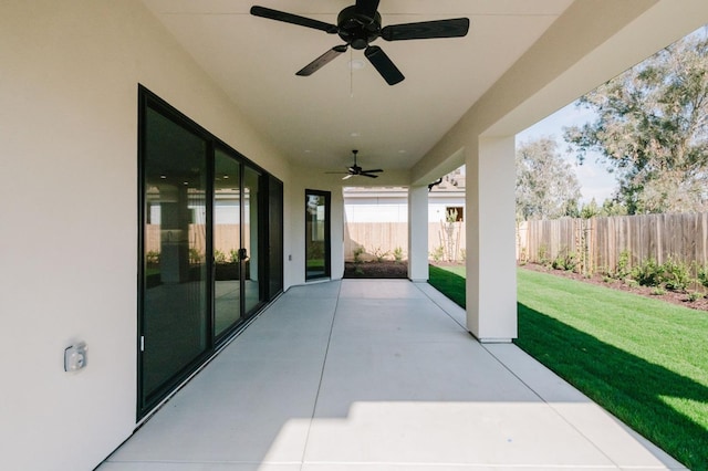
M 321 30 L 329 34 L 339 34 L 345 42 L 345 44 L 335 45 L 305 65 L 296 75 L 312 75 L 329 64 L 333 59 L 346 52 L 348 46 L 352 46 L 353 49 L 364 50 L 366 59 L 368 59 L 388 85 L 395 85 L 402 82 L 405 76 L 381 48 L 369 45 L 369 43 L 378 38 L 383 38 L 385 41 L 461 38 L 469 31 L 468 18 L 419 21 L 416 23 L 391 24 L 382 28 L 381 14 L 376 11 L 378 9 L 378 2 L 379 0 L 356 0 L 356 4 L 347 7 L 340 12 L 336 24 L 257 6 L 251 7 L 251 14 Z

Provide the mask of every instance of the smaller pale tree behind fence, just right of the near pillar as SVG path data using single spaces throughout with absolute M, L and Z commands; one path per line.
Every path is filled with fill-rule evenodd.
M 555 219 L 577 214 L 580 184 L 550 137 L 517 148 L 517 217 Z

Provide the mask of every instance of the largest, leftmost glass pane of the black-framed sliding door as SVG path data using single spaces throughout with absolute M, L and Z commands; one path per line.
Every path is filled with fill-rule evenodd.
M 207 143 L 147 108 L 144 147 L 142 404 L 209 347 Z

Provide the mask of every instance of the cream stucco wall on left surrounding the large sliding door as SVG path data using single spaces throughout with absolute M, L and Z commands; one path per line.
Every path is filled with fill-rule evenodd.
M 2 2 L 0 44 L 0 469 L 88 470 L 135 427 L 138 83 L 289 167 L 137 0 Z

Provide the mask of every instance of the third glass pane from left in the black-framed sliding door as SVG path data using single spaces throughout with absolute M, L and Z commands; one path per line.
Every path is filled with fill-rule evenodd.
M 243 171 L 243 294 L 246 313 L 253 311 L 262 301 L 259 282 L 260 241 L 260 178 L 250 167 Z

